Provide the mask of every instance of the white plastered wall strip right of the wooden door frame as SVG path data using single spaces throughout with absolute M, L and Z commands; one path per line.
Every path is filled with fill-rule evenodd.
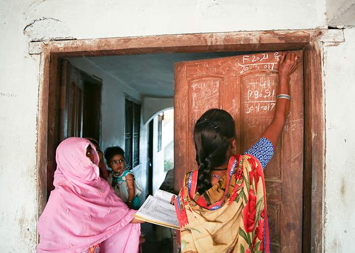
M 325 251 L 352 252 L 355 238 L 355 28 L 324 45 L 326 102 Z

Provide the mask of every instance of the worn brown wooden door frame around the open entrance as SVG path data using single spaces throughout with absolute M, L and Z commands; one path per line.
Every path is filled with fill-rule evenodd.
M 53 166 L 58 144 L 61 58 L 153 53 L 303 50 L 305 113 L 303 251 L 322 252 L 325 172 L 323 43 L 343 41 L 344 35 L 341 29 L 312 29 L 51 40 L 29 43 L 29 54 L 40 54 L 38 215 L 42 214 L 47 202 L 47 166 Z M 175 117 L 179 118 L 176 112 Z M 174 157 L 176 161 L 179 160 L 179 154 L 175 153 Z

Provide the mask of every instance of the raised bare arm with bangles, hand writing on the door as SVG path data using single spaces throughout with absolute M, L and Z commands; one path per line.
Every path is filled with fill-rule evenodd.
M 295 53 L 282 53 L 278 66 L 279 86 L 276 96 L 275 114 L 271 123 L 261 136 L 271 141 L 276 147 L 278 138 L 285 126 L 289 111 L 290 100 L 287 96 L 290 95 L 290 75 L 296 69 L 298 58 Z M 282 97 L 282 98 L 278 98 Z

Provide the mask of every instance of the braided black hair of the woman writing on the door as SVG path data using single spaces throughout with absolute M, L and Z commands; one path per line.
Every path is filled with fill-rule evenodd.
M 226 162 L 230 138 L 235 138 L 235 122 L 222 109 L 209 109 L 197 120 L 194 130 L 198 164 L 197 191 L 203 194 L 211 187 L 210 171 Z

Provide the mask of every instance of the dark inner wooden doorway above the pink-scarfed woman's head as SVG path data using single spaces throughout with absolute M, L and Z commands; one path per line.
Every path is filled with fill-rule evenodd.
M 102 80 L 61 61 L 60 137 L 91 137 L 100 143 Z

